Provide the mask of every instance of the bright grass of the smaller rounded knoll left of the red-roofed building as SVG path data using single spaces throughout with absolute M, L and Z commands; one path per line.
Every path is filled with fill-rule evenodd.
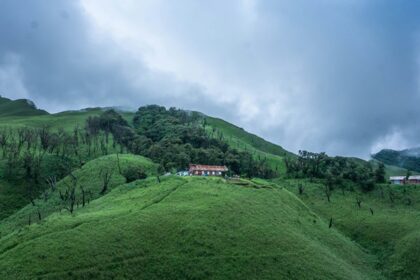
M 135 155 L 119 155 L 121 171 L 129 167 L 141 167 L 149 175 L 155 175 L 157 166 L 149 159 Z M 103 182 L 100 177 L 100 171 L 104 168 L 112 168 L 114 170 L 109 188 L 112 189 L 118 185 L 125 183 L 125 178 L 119 174 L 116 155 L 103 156 L 98 159 L 92 160 L 85 164 L 82 168 L 73 172 L 74 176 L 78 179 L 78 184 L 82 185 L 86 191 L 92 192 L 92 199 L 98 198 L 102 190 Z M 59 211 L 63 208 L 63 204 L 59 197 L 59 190 L 65 192 L 66 183 L 70 183 L 70 178 L 67 176 L 62 181 L 58 182 L 57 190 L 49 192 L 47 201 L 40 198 L 35 201 L 35 206 L 32 204 L 27 205 L 10 217 L 2 220 L 0 224 L 0 236 L 10 233 L 15 229 L 19 229 L 22 225 L 26 225 L 31 216 L 32 221 L 37 221 L 38 210 L 41 212 L 42 217 L 46 217 L 53 212 Z M 80 197 L 80 190 L 77 193 Z

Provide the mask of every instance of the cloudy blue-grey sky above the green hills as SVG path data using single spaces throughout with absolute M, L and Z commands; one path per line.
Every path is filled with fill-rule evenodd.
M 0 95 L 201 111 L 297 152 L 420 146 L 420 1 L 0 0 Z

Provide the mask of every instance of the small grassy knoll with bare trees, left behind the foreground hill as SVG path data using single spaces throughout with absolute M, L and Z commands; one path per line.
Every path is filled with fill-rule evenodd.
M 109 178 L 108 191 L 124 184 L 126 178 L 119 174 L 118 165 L 123 174 L 130 169 L 141 169 L 148 176 L 156 175 L 157 172 L 157 166 L 152 161 L 130 154 L 107 155 L 89 161 L 81 168 L 72 171 L 70 175 L 56 182 L 56 184 L 49 185 L 48 189 L 43 191 L 42 196 L 33 200 L 33 204 L 28 204 L 12 216 L 3 219 L 0 224 L 0 236 L 4 236 L 26 225 L 28 218 L 36 217 L 38 211 L 45 218 L 65 209 L 71 203 L 70 197 L 66 197 L 66 192 L 67 195 L 70 195 L 73 189 L 75 191 L 75 207 L 83 203 L 83 193 L 86 195 L 86 201 L 92 201 L 101 197 L 104 184 L 101 176 L 103 170 L 113 171 Z M 37 221 L 35 219 L 32 220 Z

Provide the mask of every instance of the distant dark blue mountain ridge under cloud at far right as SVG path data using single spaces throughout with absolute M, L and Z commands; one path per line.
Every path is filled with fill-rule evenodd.
M 411 171 L 420 172 L 420 148 L 410 148 L 401 151 L 383 149 L 372 155 L 378 161 L 388 165 L 398 166 Z

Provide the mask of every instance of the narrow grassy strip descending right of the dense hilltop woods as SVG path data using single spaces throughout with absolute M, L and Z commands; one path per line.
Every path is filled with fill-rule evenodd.
M 266 158 L 270 166 L 277 167 L 281 173 L 285 172 L 284 157 L 293 156 L 292 153 L 224 120 L 206 117 L 206 122 L 206 129 L 213 137 L 223 135 L 223 139 L 232 147 L 251 152 L 256 158 Z

